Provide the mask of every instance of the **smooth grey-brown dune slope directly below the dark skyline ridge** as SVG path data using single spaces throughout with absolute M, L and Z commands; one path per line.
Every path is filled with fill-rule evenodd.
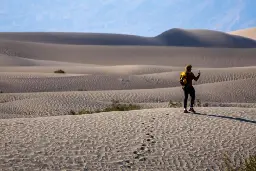
M 256 65 L 256 48 L 112 47 L 0 41 L 0 54 L 95 65 L 184 66 L 191 63 L 218 68 Z

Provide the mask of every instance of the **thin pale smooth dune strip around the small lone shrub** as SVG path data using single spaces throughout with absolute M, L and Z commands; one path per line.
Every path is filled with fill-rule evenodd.
M 184 67 L 160 66 L 160 65 L 116 65 L 116 66 L 99 66 L 99 65 L 71 65 L 71 66 L 32 66 L 32 67 L 19 67 L 19 66 L 5 66 L 0 67 L 0 72 L 36 72 L 36 73 L 53 73 L 54 71 L 62 69 L 66 73 L 72 74 L 92 74 L 92 75 L 141 75 L 150 73 L 161 73 L 168 71 L 178 71 Z M 65 74 L 59 74 L 65 75 Z

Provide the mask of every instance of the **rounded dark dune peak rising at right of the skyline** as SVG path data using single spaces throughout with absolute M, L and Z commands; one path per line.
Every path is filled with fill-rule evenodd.
M 156 37 L 168 46 L 255 48 L 252 39 L 212 30 L 171 29 Z

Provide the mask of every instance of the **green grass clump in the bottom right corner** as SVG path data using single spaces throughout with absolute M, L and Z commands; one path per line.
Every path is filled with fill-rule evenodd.
M 233 166 L 231 159 L 227 155 L 225 155 L 224 162 L 225 171 L 256 171 L 256 155 L 245 159 L 243 164 L 238 168 Z

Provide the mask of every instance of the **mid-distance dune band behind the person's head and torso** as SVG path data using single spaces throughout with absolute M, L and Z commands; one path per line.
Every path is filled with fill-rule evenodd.
M 13 71 L 16 70 L 13 67 L 11 67 L 11 69 Z M 54 71 L 53 69 L 50 70 L 49 67 L 37 67 L 34 68 L 34 70 L 32 70 L 32 68 L 30 69 L 30 72 L 32 73 L 36 71 Z M 131 90 L 180 87 L 178 79 L 180 72 L 183 71 L 181 67 L 177 68 L 164 66 L 80 66 L 75 67 L 75 69 L 77 69 L 77 72 L 73 70 L 73 72 L 68 72 L 68 74 L 28 74 L 27 70 L 25 70 L 27 74 L 0 72 L 0 90 L 5 93 L 23 93 L 78 90 Z M 203 74 L 201 76 L 201 79 L 198 82 L 195 82 L 196 85 L 256 78 L 256 67 L 240 67 L 227 69 L 196 68 L 195 75 L 197 75 L 196 71 L 199 69 L 202 71 Z M 6 68 L 0 68 L 0 71 L 1 70 L 7 71 Z

